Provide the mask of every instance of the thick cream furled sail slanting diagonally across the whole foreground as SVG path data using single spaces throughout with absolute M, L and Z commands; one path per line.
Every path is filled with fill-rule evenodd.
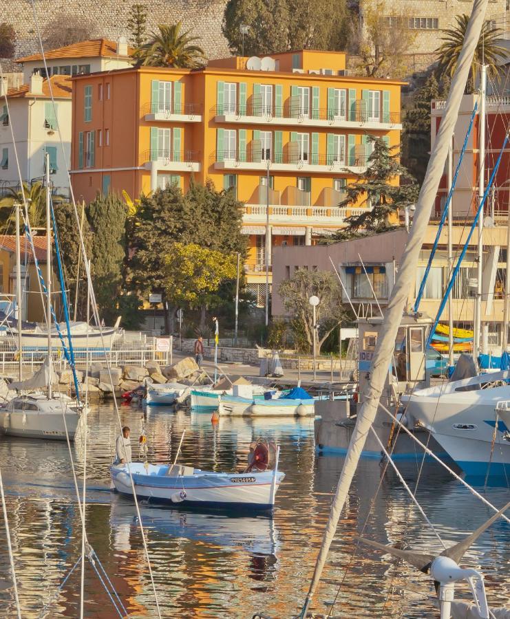
M 337 530 L 337 524 L 343 506 L 348 496 L 352 477 L 356 471 L 359 458 L 365 440 L 370 431 L 370 426 L 374 422 L 377 409 L 379 407 L 379 399 L 384 388 L 387 377 L 387 368 L 390 365 L 392 354 L 394 351 L 396 333 L 401 325 L 403 311 L 409 297 L 409 290 L 416 278 L 416 265 L 418 263 L 419 254 L 423 245 L 425 232 L 429 223 L 429 217 L 434 205 L 436 194 L 439 186 L 440 177 L 443 175 L 443 169 L 447 158 L 449 144 L 451 144 L 451 136 L 454 132 L 460 101 L 462 100 L 469 71 L 471 69 L 471 61 L 473 54 L 480 39 L 480 31 L 485 19 L 485 11 L 487 9 L 488 0 L 475 0 L 471 19 L 467 26 L 463 49 L 460 52 L 458 65 L 453 80 L 451 81 L 451 89 L 446 104 L 445 114 L 441 120 L 434 148 L 427 166 L 427 174 L 421 187 L 414 215 L 413 226 L 410 230 L 410 235 L 407 241 L 407 246 L 401 261 L 401 268 L 397 275 L 395 285 L 390 296 L 390 301 L 387 304 L 383 327 L 379 338 L 377 338 L 374 356 L 372 358 L 372 366 L 370 368 L 371 380 L 368 383 L 365 391 L 361 393 L 361 407 L 357 416 L 356 426 L 352 432 L 348 453 L 343 464 L 343 469 L 338 481 L 337 491 L 331 506 L 330 517 L 324 532 L 321 550 L 317 556 L 317 563 L 310 583 L 310 589 L 301 610 L 301 617 L 306 616 L 306 611 L 315 593 L 315 589 L 319 584 L 322 569 L 326 563 L 326 558 L 330 549 L 331 542 Z

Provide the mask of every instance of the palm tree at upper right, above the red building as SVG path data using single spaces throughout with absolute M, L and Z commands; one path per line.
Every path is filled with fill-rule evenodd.
M 455 19 L 456 25 L 446 30 L 445 36 L 441 39 L 444 43 L 441 43 L 434 52 L 438 59 L 438 73 L 450 78 L 455 72 L 460 50 L 463 47 L 469 16 L 457 15 Z M 467 86 L 469 90 L 472 91 L 475 87 L 476 76 L 482 62 L 487 65 L 487 76 L 492 79 L 498 78 L 500 74 L 498 61 L 508 54 L 506 48 L 499 45 L 499 43 L 502 43 L 501 34 L 502 30 L 493 28 L 489 21 L 485 21 L 471 63 L 471 76 Z

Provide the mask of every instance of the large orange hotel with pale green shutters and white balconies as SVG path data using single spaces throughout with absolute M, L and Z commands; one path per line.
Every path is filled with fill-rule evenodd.
M 368 135 L 400 144 L 402 83 L 347 73 L 343 52 L 306 50 L 75 76 L 74 195 L 185 192 L 192 177 L 231 189 L 244 202 L 248 290 L 263 305 L 268 211 L 271 265 L 271 248 L 310 246 L 357 212 L 338 204 L 366 168 Z

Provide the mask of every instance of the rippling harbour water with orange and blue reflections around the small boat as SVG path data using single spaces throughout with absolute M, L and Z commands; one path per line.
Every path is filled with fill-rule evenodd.
M 281 444 L 286 473 L 274 517 L 227 517 L 140 504 L 162 616 L 180 618 L 248 617 L 264 609 L 275 618 L 290 616 L 304 599 L 328 519 L 341 457 L 315 457 L 310 420 L 245 420 L 210 415 L 123 407 L 122 422 L 131 427 L 133 453 L 145 423 L 151 461 L 175 457 L 184 428 L 181 461 L 210 470 L 246 466 L 253 439 Z M 131 616 L 153 617 L 153 594 L 136 510 L 129 499 L 109 492 L 111 462 L 118 425 L 111 406 L 89 415 L 87 448 L 87 532 Z M 72 447 L 78 477 L 83 474 L 82 447 Z M 399 462 L 413 486 L 421 462 Z M 12 541 L 24 616 L 76 616 L 79 570 L 62 591 L 63 578 L 81 552 L 79 521 L 67 445 L 60 442 L 1 439 L 0 465 L 8 493 Z M 379 488 L 379 492 L 376 493 Z M 376 494 L 376 499 L 372 498 Z M 487 499 L 501 506 L 510 498 L 504 488 L 488 488 Z M 447 543 L 474 530 L 490 512 L 443 469 L 426 463 L 418 499 Z M 363 460 L 343 512 L 337 539 L 317 597 L 338 594 L 337 614 L 345 618 L 436 616 L 432 582 L 410 567 L 357 548 L 354 535 L 384 543 L 405 541 L 417 550 L 439 550 L 436 537 L 392 471 L 381 475 L 379 463 Z M 465 558 L 486 575 L 489 600 L 501 604 L 510 574 L 503 521 L 485 533 Z M 357 549 L 354 556 L 354 550 Z M 506 571 L 505 571 L 506 570 Z M 87 566 L 85 593 L 89 616 L 114 617 L 107 595 Z M 9 578 L 5 544 L 0 544 L 0 580 Z M 341 585 L 341 589 L 339 589 Z M 459 595 L 467 596 L 465 587 Z M 0 616 L 14 615 L 12 591 L 0 591 Z

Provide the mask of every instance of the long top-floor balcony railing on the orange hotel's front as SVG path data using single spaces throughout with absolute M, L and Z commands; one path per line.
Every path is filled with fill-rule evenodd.
M 337 110 L 330 108 L 314 108 L 303 109 L 299 101 L 293 102 L 289 98 L 285 105 L 265 105 L 261 102 L 248 100 L 246 104 L 226 103 L 215 105 L 211 108 L 212 116 L 237 116 L 240 120 L 245 117 L 259 117 L 267 121 L 274 120 L 277 124 L 279 118 L 293 119 L 297 122 L 305 122 L 306 120 L 321 120 L 328 124 L 340 124 L 341 122 L 359 122 L 359 123 L 384 123 L 384 124 L 399 124 L 401 122 L 401 114 L 396 112 L 384 112 L 379 110 L 376 113 L 370 113 L 367 109 L 365 100 L 357 100 L 352 106 L 343 106 Z

